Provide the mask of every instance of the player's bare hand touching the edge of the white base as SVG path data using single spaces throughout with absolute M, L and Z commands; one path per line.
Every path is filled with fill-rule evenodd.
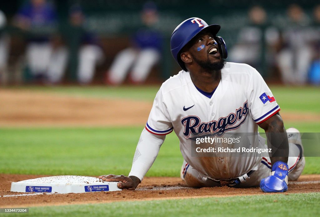
M 99 179 L 105 182 L 119 182 L 117 184 L 120 189 L 129 189 L 135 190 L 138 184 L 141 182 L 140 179 L 136 176 L 124 176 L 124 175 L 102 175 L 99 176 Z

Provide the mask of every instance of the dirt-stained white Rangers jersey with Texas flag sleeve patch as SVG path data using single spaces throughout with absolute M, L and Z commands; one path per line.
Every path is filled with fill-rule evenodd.
M 186 162 L 204 175 L 228 179 L 257 169 L 261 153 L 248 152 L 245 158 L 198 157 L 191 150 L 195 138 L 249 132 L 254 133 L 251 144 L 258 146 L 257 124 L 279 110 L 258 71 L 247 64 L 227 63 L 211 98 L 196 88 L 189 72 L 180 71 L 165 81 L 156 94 L 146 129 L 156 135 L 174 131 Z

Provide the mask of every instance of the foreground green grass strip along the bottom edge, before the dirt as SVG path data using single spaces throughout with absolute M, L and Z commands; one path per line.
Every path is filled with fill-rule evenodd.
M 320 193 L 45 206 L 30 216 L 319 216 Z M 27 214 L 15 214 L 23 216 Z

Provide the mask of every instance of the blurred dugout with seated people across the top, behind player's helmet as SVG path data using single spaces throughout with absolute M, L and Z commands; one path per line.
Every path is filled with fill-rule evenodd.
M 172 31 L 183 20 L 199 17 L 221 25 L 227 61 L 250 64 L 272 82 L 319 85 L 320 4 L 295 2 L 1 1 L 0 80 L 162 82 L 180 71 L 170 53 Z

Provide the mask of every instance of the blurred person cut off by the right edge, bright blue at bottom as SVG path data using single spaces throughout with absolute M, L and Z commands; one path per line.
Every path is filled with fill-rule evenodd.
M 320 85 L 320 4 L 313 11 L 312 63 L 309 70 L 309 82 Z

